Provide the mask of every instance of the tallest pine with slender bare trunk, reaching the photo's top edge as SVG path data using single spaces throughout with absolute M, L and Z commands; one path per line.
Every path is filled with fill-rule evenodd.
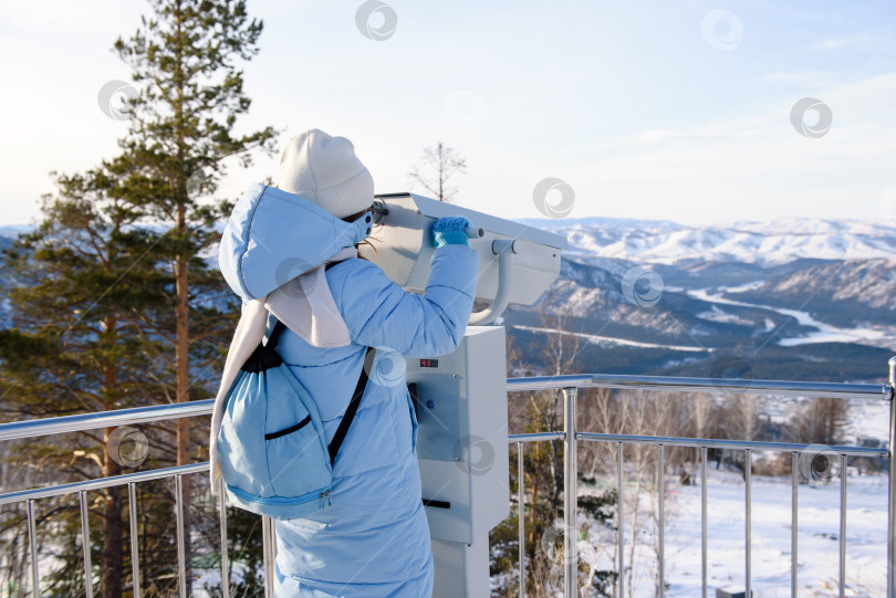
M 204 335 L 221 324 L 221 314 L 208 302 L 201 315 L 191 310 L 207 298 L 198 291 L 220 286 L 220 276 L 201 256 L 217 242 L 213 224 L 229 208 L 202 201 L 202 192 L 213 191 L 223 158 L 239 155 L 246 165 L 250 148 L 271 149 L 274 130 L 233 132 L 237 116 L 251 104 L 235 60 L 258 53 L 262 31 L 261 21 L 249 18 L 246 2 L 150 0 L 150 6 L 153 18 L 143 19 L 128 41 L 115 42 L 140 88 L 128 101 L 131 132 L 114 169 L 133 188 L 134 208 L 168 227 L 158 239 L 175 279 L 174 317 L 159 334 L 174 345 L 174 397 L 185 402 L 196 384 L 191 346 L 201 346 Z M 201 319 L 191 321 L 191 315 Z M 184 419 L 177 429 L 177 464 L 190 462 L 191 449 L 189 420 Z M 189 504 L 190 479 L 184 482 L 183 500 Z M 190 529 L 189 511 L 185 515 Z

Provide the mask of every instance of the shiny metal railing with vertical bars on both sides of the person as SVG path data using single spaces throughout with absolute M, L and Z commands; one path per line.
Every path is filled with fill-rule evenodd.
M 744 451 L 744 482 L 746 482 L 746 513 L 744 513 L 744 537 L 746 537 L 746 558 L 744 558 L 744 578 L 746 578 L 746 596 L 750 596 L 751 591 L 751 473 L 750 473 L 750 459 L 751 451 L 753 450 L 771 450 L 778 452 L 790 452 L 792 455 L 792 532 L 791 532 L 791 591 L 792 596 L 796 596 L 796 555 L 798 555 L 798 508 L 796 500 L 799 492 L 799 478 L 796 468 L 796 455 L 800 451 L 811 447 L 810 444 L 799 443 L 782 443 L 782 442 L 754 442 L 754 441 L 734 441 L 734 440 L 713 440 L 713 439 L 692 439 L 692 438 L 677 438 L 677 437 L 653 437 L 653 436 L 635 436 L 635 434 L 606 434 L 596 432 L 583 432 L 576 428 L 576 399 L 577 389 L 581 388 L 614 388 L 614 389 L 645 389 L 645 390 L 686 390 L 690 392 L 712 392 L 718 391 L 720 388 L 737 391 L 741 394 L 756 394 L 756 395 L 783 395 L 783 396 L 825 396 L 838 398 L 856 398 L 856 399 L 884 399 L 889 401 L 889 444 L 886 450 L 875 449 L 867 447 L 830 447 L 830 450 L 840 455 L 841 459 L 841 501 L 840 501 L 840 591 L 841 596 L 844 594 L 845 585 L 845 532 L 846 532 L 846 457 L 872 457 L 872 458 L 889 458 L 892 448 L 896 444 L 896 409 L 894 409 L 894 388 L 896 388 L 896 357 L 889 360 L 889 382 L 884 385 L 855 385 L 855 384 L 831 384 L 831 382 L 786 382 L 786 381 L 772 381 L 772 380 L 741 380 L 741 379 L 713 379 L 713 378 L 674 378 L 674 377 L 655 377 L 655 376 L 615 376 L 615 375 L 588 375 L 588 376 L 559 376 L 559 377 L 535 377 L 535 378 L 510 378 L 508 379 L 508 392 L 518 391 L 532 391 L 532 390 L 562 390 L 563 391 L 563 431 L 529 433 L 529 434 L 511 434 L 508 437 L 510 443 L 515 443 L 518 448 L 518 501 L 519 501 L 519 534 L 520 534 L 520 595 L 524 595 L 525 588 L 525 555 L 524 555 L 524 538 L 525 522 L 524 522 L 524 507 L 523 500 L 523 444 L 527 442 L 548 441 L 548 440 L 562 440 L 564 442 L 564 528 L 566 531 L 575 529 L 576 527 L 576 513 L 577 513 L 577 481 L 579 481 L 579 466 L 576 461 L 576 451 L 579 441 L 590 442 L 612 442 L 616 443 L 617 452 L 617 539 L 619 549 L 617 550 L 616 563 L 618 577 L 617 577 L 617 595 L 619 598 L 624 596 L 624 576 L 625 570 L 625 554 L 622 547 L 624 546 L 624 520 L 623 520 L 623 491 L 624 491 L 624 454 L 623 448 L 626 444 L 654 444 L 658 447 L 658 464 L 659 471 L 663 471 L 664 465 L 664 447 L 688 447 L 700 450 L 700 472 L 701 472 L 701 570 L 702 570 L 702 596 L 707 596 L 707 450 L 708 449 L 732 449 Z M 184 417 L 198 417 L 211 415 L 212 400 L 191 401 L 189 403 L 163 405 L 153 407 L 142 407 L 135 409 L 123 409 L 118 411 L 107 411 L 101 413 L 90 413 L 81 416 L 67 416 L 61 418 L 50 418 L 43 420 L 22 421 L 13 423 L 0 424 L 0 441 L 9 441 L 23 438 L 35 438 L 41 436 L 55 434 L 61 432 L 83 431 L 97 428 L 105 428 L 111 426 L 119 426 L 125 423 L 143 423 L 150 421 L 160 421 L 166 419 L 177 419 Z M 887 562 L 886 562 L 886 584 L 887 596 L 896 598 L 896 578 L 894 577 L 894 523 L 896 523 L 896 489 L 894 489 L 894 480 L 896 479 L 896 460 L 889 459 L 888 469 L 888 494 L 887 494 Z M 60 496 L 66 494 L 77 494 L 80 499 L 81 511 L 81 534 L 82 545 L 84 549 L 84 569 L 85 569 L 85 591 L 87 598 L 93 598 L 93 584 L 91 576 L 91 555 L 90 555 L 90 526 L 87 522 L 87 503 L 86 493 L 88 491 L 102 490 L 112 486 L 126 485 L 128 489 L 128 497 L 131 504 L 135 504 L 135 484 L 148 480 L 159 480 L 174 478 L 175 479 L 175 512 L 177 517 L 177 557 L 178 557 L 178 587 L 183 598 L 187 596 L 186 583 L 186 563 L 185 563 L 185 531 L 184 531 L 184 504 L 183 504 L 183 476 L 194 473 L 206 474 L 208 472 L 208 462 L 192 463 L 188 465 L 164 468 L 159 470 L 128 473 L 111 478 L 103 478 L 96 480 L 86 480 L 82 482 L 73 482 L 69 484 L 61 484 L 49 487 L 40 487 L 32 490 L 23 490 L 17 492 L 9 492 L 0 494 L 0 506 L 25 503 L 27 520 L 28 520 L 28 535 L 29 535 L 29 550 L 31 555 L 31 584 L 33 596 L 40 595 L 40 569 L 39 558 L 37 558 L 37 534 L 34 521 L 34 501 L 46 499 L 51 496 Z M 219 486 L 219 496 L 223 496 L 222 487 Z M 665 486 L 663 483 L 658 484 L 659 492 L 659 558 L 658 558 L 658 577 L 659 584 L 657 588 L 659 596 L 663 596 L 664 580 L 665 580 L 665 515 L 664 515 L 664 500 Z M 222 502 L 219 500 L 220 512 L 220 526 L 221 526 L 221 590 L 223 598 L 229 598 L 229 560 L 228 560 L 228 541 L 227 541 L 227 511 L 222 508 Z M 134 596 L 140 596 L 140 571 L 139 558 L 137 552 L 137 522 L 136 510 L 129 508 L 129 525 L 131 525 L 131 557 L 132 557 L 132 575 L 134 578 Z M 264 574 L 265 574 L 265 596 L 272 596 L 272 579 L 273 574 L 273 558 L 274 558 L 274 543 L 273 543 L 273 525 L 271 521 L 263 521 L 263 541 L 264 541 Z M 576 558 L 576 535 L 573 533 L 564 534 L 564 550 L 566 557 L 564 558 L 564 590 L 567 597 L 577 596 L 579 579 L 577 579 L 577 558 Z

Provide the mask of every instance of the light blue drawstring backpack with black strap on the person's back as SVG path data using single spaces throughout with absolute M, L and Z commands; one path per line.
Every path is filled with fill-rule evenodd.
M 333 463 L 375 353 L 367 349 L 354 396 L 327 445 L 314 400 L 277 353 L 284 328 L 278 322 L 237 375 L 217 441 L 231 503 L 278 520 L 304 517 L 331 504 Z

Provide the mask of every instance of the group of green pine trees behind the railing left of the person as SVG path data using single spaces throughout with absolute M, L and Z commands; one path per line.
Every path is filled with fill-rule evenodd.
M 84 172 L 55 174 L 40 224 L 3 253 L 12 323 L 0 331 L 4 421 L 185 402 L 217 390 L 239 304 L 207 258 L 218 241 L 213 227 L 232 206 L 216 193 L 221 160 L 236 156 L 246 166 L 252 151 L 271 151 L 274 141 L 272 127 L 235 133 L 251 106 L 242 69 L 259 51 L 263 25 L 246 2 L 228 0 L 150 0 L 135 25 L 113 44 L 137 91 L 117 107 L 128 119 L 118 154 Z M 199 419 L 140 427 L 148 453 L 137 468 L 112 450 L 121 448 L 114 432 L 20 443 L 7 454 L 3 485 L 208 457 L 207 421 Z M 129 508 L 138 512 L 144 596 L 175 590 L 174 484 L 166 482 L 138 484 L 133 505 L 123 487 L 90 493 L 93 575 L 104 598 L 133 594 L 124 549 Z M 216 505 L 206 486 L 204 476 L 184 478 L 188 565 L 217 558 L 217 529 L 209 528 Z M 75 499 L 39 503 L 40 544 L 53 564 L 44 567 L 52 569 L 44 596 L 84 591 Z M 22 591 L 27 565 L 12 556 L 24 542 L 22 517 L 23 510 L 4 508 L 0 521 L 3 595 Z M 237 539 L 251 548 L 254 522 L 244 522 L 243 532 L 233 517 Z M 252 575 L 242 580 L 248 590 L 257 587 Z

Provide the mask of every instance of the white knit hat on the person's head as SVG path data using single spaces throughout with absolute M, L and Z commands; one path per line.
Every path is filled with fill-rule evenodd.
M 336 218 L 373 204 L 373 177 L 345 137 L 313 128 L 289 140 L 280 156 L 278 187 L 302 196 Z

